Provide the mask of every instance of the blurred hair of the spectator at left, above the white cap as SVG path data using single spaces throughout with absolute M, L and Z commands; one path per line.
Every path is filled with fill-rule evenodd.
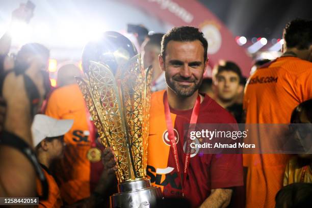
M 23 56 L 25 54 L 49 57 L 50 51 L 40 43 L 27 43 L 19 49 L 17 56 Z

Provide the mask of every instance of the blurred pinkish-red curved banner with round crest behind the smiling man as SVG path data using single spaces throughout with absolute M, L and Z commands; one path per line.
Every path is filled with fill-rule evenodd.
M 220 59 L 236 62 L 248 77 L 252 65 L 245 48 L 239 46 L 225 25 L 196 0 L 124 0 L 173 26 L 192 25 L 200 28 L 208 40 L 209 65 Z M 148 25 L 146 25 L 148 28 Z M 208 72 L 209 73 L 209 72 Z M 210 74 L 208 74 L 210 75 Z

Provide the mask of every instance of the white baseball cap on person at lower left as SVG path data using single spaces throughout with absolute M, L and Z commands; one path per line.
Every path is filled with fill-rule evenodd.
M 32 125 L 34 146 L 36 147 L 47 137 L 59 137 L 65 135 L 73 124 L 72 119 L 58 120 L 43 114 L 35 115 Z

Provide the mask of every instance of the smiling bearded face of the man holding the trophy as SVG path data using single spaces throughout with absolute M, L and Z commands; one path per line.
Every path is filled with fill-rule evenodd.
M 161 56 L 159 62 L 168 87 L 181 97 L 190 97 L 199 88 L 207 64 L 201 42 L 171 40 L 165 56 L 165 62 Z

